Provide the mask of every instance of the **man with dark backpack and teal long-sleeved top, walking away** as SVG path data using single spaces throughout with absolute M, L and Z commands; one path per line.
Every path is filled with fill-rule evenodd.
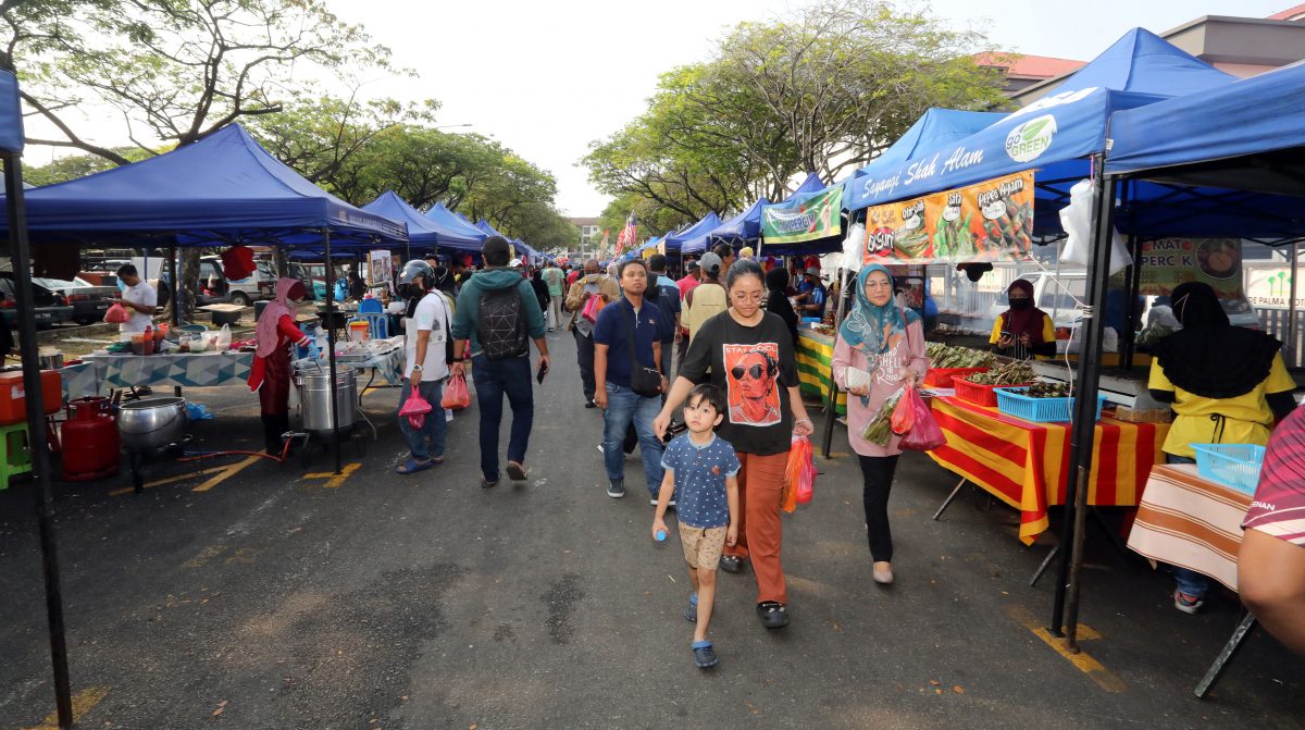
M 535 418 L 530 384 L 530 340 L 539 349 L 539 368 L 548 371 L 548 341 L 544 313 L 530 281 L 508 268 L 512 251 L 502 236 L 489 236 L 480 249 L 485 268 L 462 285 L 453 317 L 453 372 L 463 373 L 471 359 L 471 379 L 476 385 L 480 410 L 480 486 L 499 483 L 499 424 L 502 397 L 512 406 L 512 435 L 508 439 L 508 477 L 526 479 L 526 445 Z

